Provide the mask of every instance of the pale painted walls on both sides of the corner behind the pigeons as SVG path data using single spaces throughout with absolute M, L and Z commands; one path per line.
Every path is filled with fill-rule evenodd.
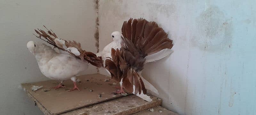
M 215 0 L 101 0 L 100 50 L 124 20 L 156 21 L 174 41 L 173 53 L 147 64 L 143 76 L 163 106 L 180 115 L 255 115 L 255 4 Z M 0 1 L 0 113 L 42 114 L 20 83 L 47 80 L 26 48 L 47 26 L 59 38 L 96 52 L 93 0 Z M 96 73 L 91 67 L 88 71 Z M 108 75 L 104 70 L 100 73 Z

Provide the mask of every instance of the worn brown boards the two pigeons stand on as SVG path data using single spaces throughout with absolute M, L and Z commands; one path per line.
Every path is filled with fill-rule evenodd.
M 21 84 L 33 104 L 45 115 L 131 115 L 162 104 L 162 100 L 150 96 L 152 102 L 147 102 L 136 95 L 122 96 L 114 94 L 113 81 L 106 80 L 101 74 L 91 74 L 79 77 L 77 83 L 80 91 L 67 92 L 67 89 L 49 89 L 55 87 L 57 81 L 41 81 Z M 67 88 L 72 88 L 71 81 L 64 81 Z M 32 91 L 33 86 L 43 86 Z M 91 91 L 90 91 L 91 90 Z M 92 91 L 93 90 L 93 91 Z

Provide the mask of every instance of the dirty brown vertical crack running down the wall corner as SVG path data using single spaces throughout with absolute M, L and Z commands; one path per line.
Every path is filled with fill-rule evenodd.
M 95 18 L 95 34 L 94 34 L 94 38 L 96 40 L 95 42 L 95 46 L 97 49 L 97 53 L 99 53 L 100 49 L 99 49 L 99 0 L 94 0 L 94 8 L 95 8 L 95 13 L 96 13 L 96 18 Z M 99 68 L 97 67 L 97 73 L 100 73 Z

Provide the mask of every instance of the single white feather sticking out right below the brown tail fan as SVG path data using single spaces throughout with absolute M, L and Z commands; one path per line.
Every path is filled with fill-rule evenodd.
M 148 62 L 154 62 L 156 60 L 162 59 L 162 58 L 164 58 L 165 56 L 168 56 L 171 53 L 172 53 L 171 49 L 166 48 L 166 49 L 158 51 L 154 54 L 148 55 L 148 56 L 145 57 L 146 61 L 144 62 L 144 64 L 146 64 Z

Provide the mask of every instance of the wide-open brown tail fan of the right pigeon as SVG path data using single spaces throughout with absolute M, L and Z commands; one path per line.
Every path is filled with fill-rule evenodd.
M 132 92 L 131 89 L 135 85 L 135 94 L 140 94 L 141 91 L 146 94 L 144 82 L 139 75 L 139 72 L 143 70 L 146 57 L 148 56 L 148 62 L 150 62 L 167 56 L 166 51 L 163 54 L 160 52 L 159 57 L 153 54 L 164 49 L 170 50 L 173 46 L 172 40 L 167 37 L 162 28 L 158 27 L 156 22 L 148 22 L 146 19 L 124 21 L 122 33 L 124 36 L 121 36 L 122 48 L 119 54 L 115 54 L 120 59 L 119 67 L 123 72 L 122 86 L 128 92 Z M 149 57 L 149 55 L 152 56 Z

